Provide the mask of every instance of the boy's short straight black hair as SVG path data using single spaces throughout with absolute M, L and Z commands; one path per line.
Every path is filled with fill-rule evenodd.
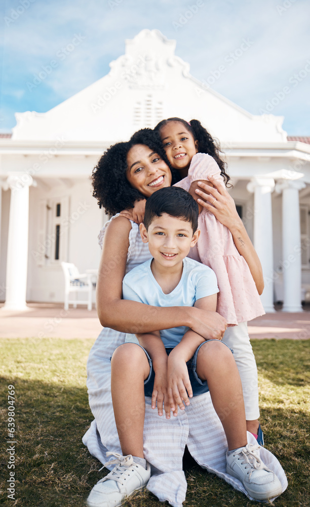
M 190 222 L 192 232 L 197 231 L 198 204 L 186 190 L 179 187 L 166 187 L 154 192 L 145 204 L 143 223 L 146 230 L 154 218 L 163 213 Z

